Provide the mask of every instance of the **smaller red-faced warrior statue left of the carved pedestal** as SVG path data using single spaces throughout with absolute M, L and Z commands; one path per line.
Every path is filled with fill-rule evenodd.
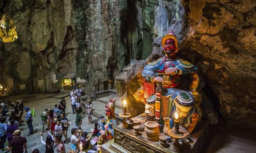
M 119 125 L 119 121 L 115 115 L 116 99 L 110 99 L 105 106 L 106 117 L 99 121 L 98 128 L 100 129 L 100 136 L 98 137 L 98 148 L 105 142 L 110 141 L 114 137 L 114 127 Z

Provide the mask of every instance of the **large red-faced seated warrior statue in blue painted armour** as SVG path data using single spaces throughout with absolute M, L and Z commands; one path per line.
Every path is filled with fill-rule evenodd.
M 142 76 L 148 83 L 156 83 L 155 119 L 163 124 L 163 118 L 171 118 L 170 126 L 173 127 L 174 113 L 179 114 L 180 125 L 192 132 L 196 126 L 198 115 L 195 108 L 195 97 L 198 96 L 196 88 L 199 83 L 197 68 L 190 62 L 177 57 L 179 50 L 178 40 L 175 34 L 170 31 L 162 38 L 164 57 L 155 62 L 148 63 L 144 67 Z M 178 89 L 180 75 L 192 73 L 193 82 L 189 87 L 190 91 Z M 150 90 L 145 89 L 144 92 Z

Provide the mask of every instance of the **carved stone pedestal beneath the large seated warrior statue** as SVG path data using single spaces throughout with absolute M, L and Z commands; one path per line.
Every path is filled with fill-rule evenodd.
M 142 120 L 144 119 L 140 115 L 137 117 Z M 128 124 L 129 128 L 126 129 L 121 128 L 120 125 L 115 127 L 114 139 L 102 145 L 102 153 L 175 153 L 172 150 L 174 139 L 171 139 L 171 142 L 167 142 L 168 147 L 163 148 L 159 145 L 159 142 L 148 141 L 145 138 L 144 132 L 140 132 L 141 135 L 133 135 L 133 129 L 129 121 Z M 188 148 L 188 146 L 183 147 L 182 152 L 202 152 L 203 145 L 207 140 L 207 133 L 208 122 L 202 120 L 188 138 L 190 149 L 185 149 Z M 164 134 L 160 133 L 159 135 Z M 181 140 L 179 140 L 179 143 L 182 144 Z

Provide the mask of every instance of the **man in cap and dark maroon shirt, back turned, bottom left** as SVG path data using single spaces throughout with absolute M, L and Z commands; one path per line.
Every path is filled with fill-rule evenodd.
M 6 147 L 7 150 L 12 151 L 12 153 L 22 153 L 24 147 L 25 153 L 28 153 L 27 139 L 25 137 L 20 136 L 20 134 L 20 130 L 15 130 L 13 132 L 14 138 L 9 144 L 9 147 Z

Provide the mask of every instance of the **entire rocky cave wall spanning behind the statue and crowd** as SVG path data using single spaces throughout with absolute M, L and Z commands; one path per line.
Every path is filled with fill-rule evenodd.
M 1 84 L 11 94 L 57 92 L 62 77 L 76 73 L 87 81 L 87 94 L 93 86 L 104 90 L 131 59 L 160 57 L 161 36 L 174 30 L 180 56 L 199 67 L 199 89 L 208 102 L 204 111 L 253 128 L 255 5 L 250 0 L 0 0 L 0 16 L 14 22 L 18 35 L 14 42 L 0 41 Z

